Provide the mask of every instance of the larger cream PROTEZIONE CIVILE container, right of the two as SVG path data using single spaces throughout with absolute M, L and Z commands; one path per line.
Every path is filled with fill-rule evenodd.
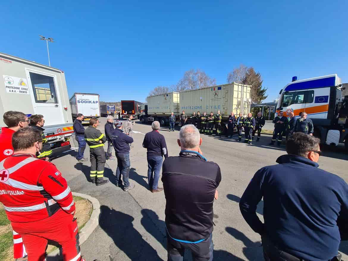
M 197 111 L 201 115 L 204 112 L 207 115 L 210 115 L 210 112 L 216 115 L 217 111 L 220 110 L 223 132 L 226 130 L 226 124 L 228 123 L 228 117 L 231 112 L 234 112 L 236 117 L 242 112 L 243 116 L 246 117 L 250 112 L 250 103 L 251 86 L 237 84 L 236 82 L 187 90 L 180 93 L 180 111 L 185 111 L 188 117 Z M 190 118 L 188 118 L 188 123 L 190 121 Z

